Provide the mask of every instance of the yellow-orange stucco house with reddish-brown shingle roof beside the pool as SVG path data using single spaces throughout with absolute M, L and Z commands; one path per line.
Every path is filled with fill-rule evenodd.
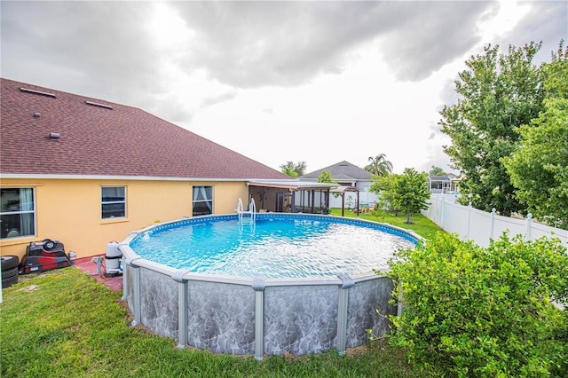
M 2 255 L 44 239 L 100 255 L 149 224 L 234 213 L 256 191 L 266 209 L 283 209 L 314 186 L 141 109 L 0 81 Z

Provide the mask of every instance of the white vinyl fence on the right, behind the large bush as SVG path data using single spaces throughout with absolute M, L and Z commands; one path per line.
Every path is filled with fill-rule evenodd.
M 473 240 L 481 247 L 487 247 L 492 239 L 499 239 L 503 232 L 509 232 L 509 237 L 525 235 L 526 240 L 554 237 L 568 245 L 568 230 L 537 223 L 531 215 L 526 219 L 501 217 L 494 209 L 492 213 L 487 213 L 463 206 L 451 194 L 432 194 L 430 207 L 422 210 L 422 215 L 446 232 L 458 233 L 461 239 Z

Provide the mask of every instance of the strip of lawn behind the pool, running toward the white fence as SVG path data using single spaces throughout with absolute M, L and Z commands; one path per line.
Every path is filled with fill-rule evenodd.
M 330 209 L 329 214 L 341 217 L 341 209 Z M 357 217 L 357 214 L 349 209 L 345 209 L 344 217 Z M 437 224 L 432 222 L 422 214 L 414 214 L 413 224 L 406 224 L 406 215 L 399 214 L 395 217 L 388 211 L 376 210 L 369 214 L 359 214 L 359 218 L 375 222 L 388 223 L 407 230 L 413 230 L 424 239 L 432 239 L 438 232 L 445 232 Z

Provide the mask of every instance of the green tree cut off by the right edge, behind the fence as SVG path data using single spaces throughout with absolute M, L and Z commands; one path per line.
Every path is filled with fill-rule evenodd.
M 540 220 L 568 229 L 568 49 L 543 67 L 544 111 L 518 129 L 519 148 L 503 159 L 517 198 Z

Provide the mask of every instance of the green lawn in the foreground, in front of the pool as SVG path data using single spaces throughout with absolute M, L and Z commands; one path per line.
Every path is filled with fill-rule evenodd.
M 420 377 L 404 350 L 384 341 L 304 357 L 216 355 L 152 335 L 122 293 L 75 267 L 21 276 L 0 304 L 2 377 Z

